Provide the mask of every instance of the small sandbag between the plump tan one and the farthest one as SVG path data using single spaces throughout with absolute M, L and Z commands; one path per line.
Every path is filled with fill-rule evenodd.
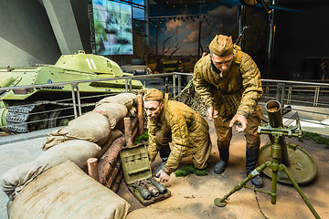
M 111 129 L 114 129 L 118 123 L 122 122 L 123 118 L 128 114 L 127 108 L 121 103 L 103 103 L 92 111 L 107 117 L 110 121 Z

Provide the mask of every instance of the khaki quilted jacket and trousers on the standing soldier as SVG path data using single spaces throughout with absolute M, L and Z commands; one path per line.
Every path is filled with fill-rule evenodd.
M 218 133 L 218 149 L 227 149 L 232 138 L 229 121 L 235 114 L 247 118 L 245 130 L 247 147 L 254 150 L 260 148 L 260 136 L 257 128 L 260 125 L 262 110 L 258 101 L 262 94 L 260 70 L 248 54 L 233 50 L 233 61 L 226 75 L 215 71 L 211 57 L 200 58 L 196 62 L 193 82 L 207 109 L 218 110 L 218 118 L 214 120 Z

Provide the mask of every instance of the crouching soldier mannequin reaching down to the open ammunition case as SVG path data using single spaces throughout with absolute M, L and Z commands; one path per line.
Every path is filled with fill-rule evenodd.
M 160 183 L 167 182 L 182 158 L 189 155 L 193 155 L 196 169 L 205 169 L 211 151 L 207 121 L 184 103 L 168 100 L 168 95 L 164 97 L 158 89 L 147 89 L 143 104 L 148 117 L 150 162 L 154 162 L 158 151 L 162 158 L 154 172 Z

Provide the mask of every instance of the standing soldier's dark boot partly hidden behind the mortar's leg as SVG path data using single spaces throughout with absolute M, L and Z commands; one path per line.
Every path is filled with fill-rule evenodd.
M 246 148 L 246 172 L 247 176 L 249 175 L 250 172 L 252 172 L 256 168 L 256 164 L 259 159 L 259 150 L 253 150 L 250 148 Z M 257 175 L 251 180 L 251 183 L 257 187 L 257 188 L 262 188 L 263 183 L 260 178 L 260 175 Z

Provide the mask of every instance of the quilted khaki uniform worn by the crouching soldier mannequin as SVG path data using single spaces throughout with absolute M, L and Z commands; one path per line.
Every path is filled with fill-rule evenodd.
M 183 157 L 193 155 L 193 164 L 197 169 L 207 167 L 211 151 L 209 126 L 202 116 L 184 103 L 164 99 L 164 109 L 158 120 L 148 121 L 149 147 L 151 162 L 159 150 L 169 148 L 171 152 L 164 165 L 167 174 L 175 172 Z

